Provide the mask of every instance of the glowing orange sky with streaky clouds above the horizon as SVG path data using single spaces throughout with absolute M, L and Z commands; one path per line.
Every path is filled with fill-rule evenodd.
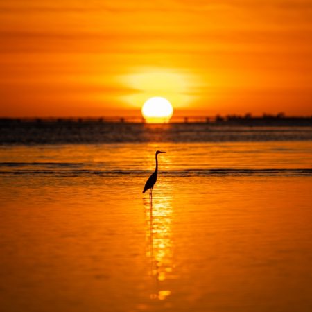
M 0 116 L 312 114 L 311 0 L 0 0 Z

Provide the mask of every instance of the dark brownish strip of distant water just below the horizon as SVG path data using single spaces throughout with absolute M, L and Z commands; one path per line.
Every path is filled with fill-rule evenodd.
M 213 123 L 2 122 L 0 144 L 311 141 L 310 126 L 229 126 Z

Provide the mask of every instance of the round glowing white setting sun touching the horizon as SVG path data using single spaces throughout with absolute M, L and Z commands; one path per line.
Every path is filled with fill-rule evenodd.
M 173 107 L 166 98 L 155 96 L 148 98 L 141 112 L 148 123 L 168 123 L 173 115 Z

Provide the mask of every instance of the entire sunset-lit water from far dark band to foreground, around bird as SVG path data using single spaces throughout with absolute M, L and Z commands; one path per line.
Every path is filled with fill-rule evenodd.
M 312 311 L 311 128 L 31 129 L 0 133 L 1 311 Z

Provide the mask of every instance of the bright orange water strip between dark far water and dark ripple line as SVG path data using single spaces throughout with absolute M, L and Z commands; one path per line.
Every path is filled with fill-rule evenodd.
M 0 172 L 311 169 L 312 141 L 0 146 Z

